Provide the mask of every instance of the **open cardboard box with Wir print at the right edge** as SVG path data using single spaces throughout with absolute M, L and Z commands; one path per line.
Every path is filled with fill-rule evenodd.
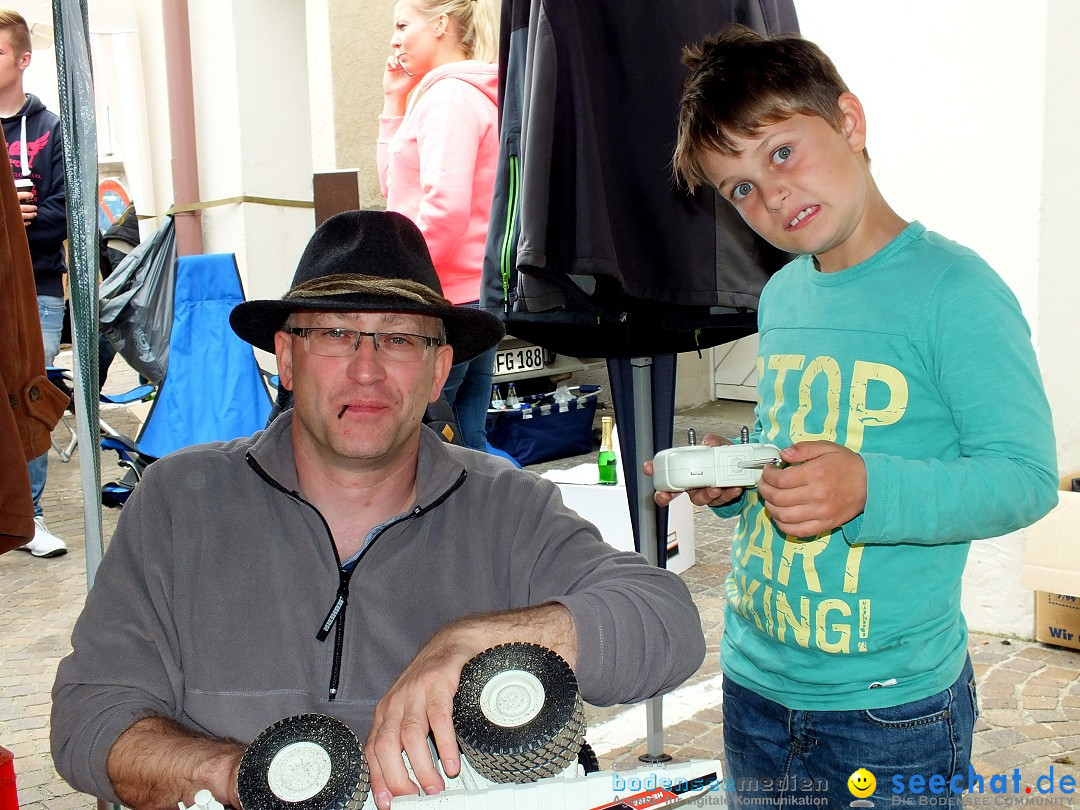
M 1057 505 L 1025 532 L 1021 582 L 1035 591 L 1035 637 L 1080 650 L 1080 492 L 1062 477 Z

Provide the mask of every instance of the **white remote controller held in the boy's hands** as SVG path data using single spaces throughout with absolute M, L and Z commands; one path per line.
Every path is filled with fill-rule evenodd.
M 701 487 L 753 487 L 761 470 L 780 463 L 771 444 L 694 445 L 661 450 L 652 459 L 652 485 L 662 492 Z

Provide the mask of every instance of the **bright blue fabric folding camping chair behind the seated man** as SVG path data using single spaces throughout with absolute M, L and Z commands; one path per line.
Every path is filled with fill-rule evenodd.
M 126 472 L 102 488 L 102 503 L 122 507 L 143 470 L 166 454 L 246 436 L 266 426 L 270 392 L 255 351 L 229 326 L 244 300 L 232 254 L 183 256 L 176 265 L 168 369 L 135 442 L 106 435 Z

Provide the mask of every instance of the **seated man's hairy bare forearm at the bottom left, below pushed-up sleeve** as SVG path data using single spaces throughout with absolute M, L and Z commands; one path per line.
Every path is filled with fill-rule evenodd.
M 145 717 L 117 738 L 106 768 L 127 807 L 194 805 L 194 795 L 207 789 L 221 804 L 239 808 L 237 771 L 244 750 L 235 740 L 215 740 L 164 717 Z

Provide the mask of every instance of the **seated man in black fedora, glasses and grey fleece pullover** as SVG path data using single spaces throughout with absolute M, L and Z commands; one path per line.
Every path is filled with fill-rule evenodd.
M 678 577 L 604 543 L 550 482 L 421 424 L 502 325 L 442 296 L 406 217 L 332 217 L 285 296 L 230 320 L 276 354 L 295 405 L 154 462 L 124 507 L 53 688 L 53 757 L 77 788 L 239 807 L 244 743 L 315 712 L 366 735 L 386 808 L 444 787 L 429 733 L 457 772 L 453 698 L 488 647 L 554 649 L 600 705 L 698 669 Z

